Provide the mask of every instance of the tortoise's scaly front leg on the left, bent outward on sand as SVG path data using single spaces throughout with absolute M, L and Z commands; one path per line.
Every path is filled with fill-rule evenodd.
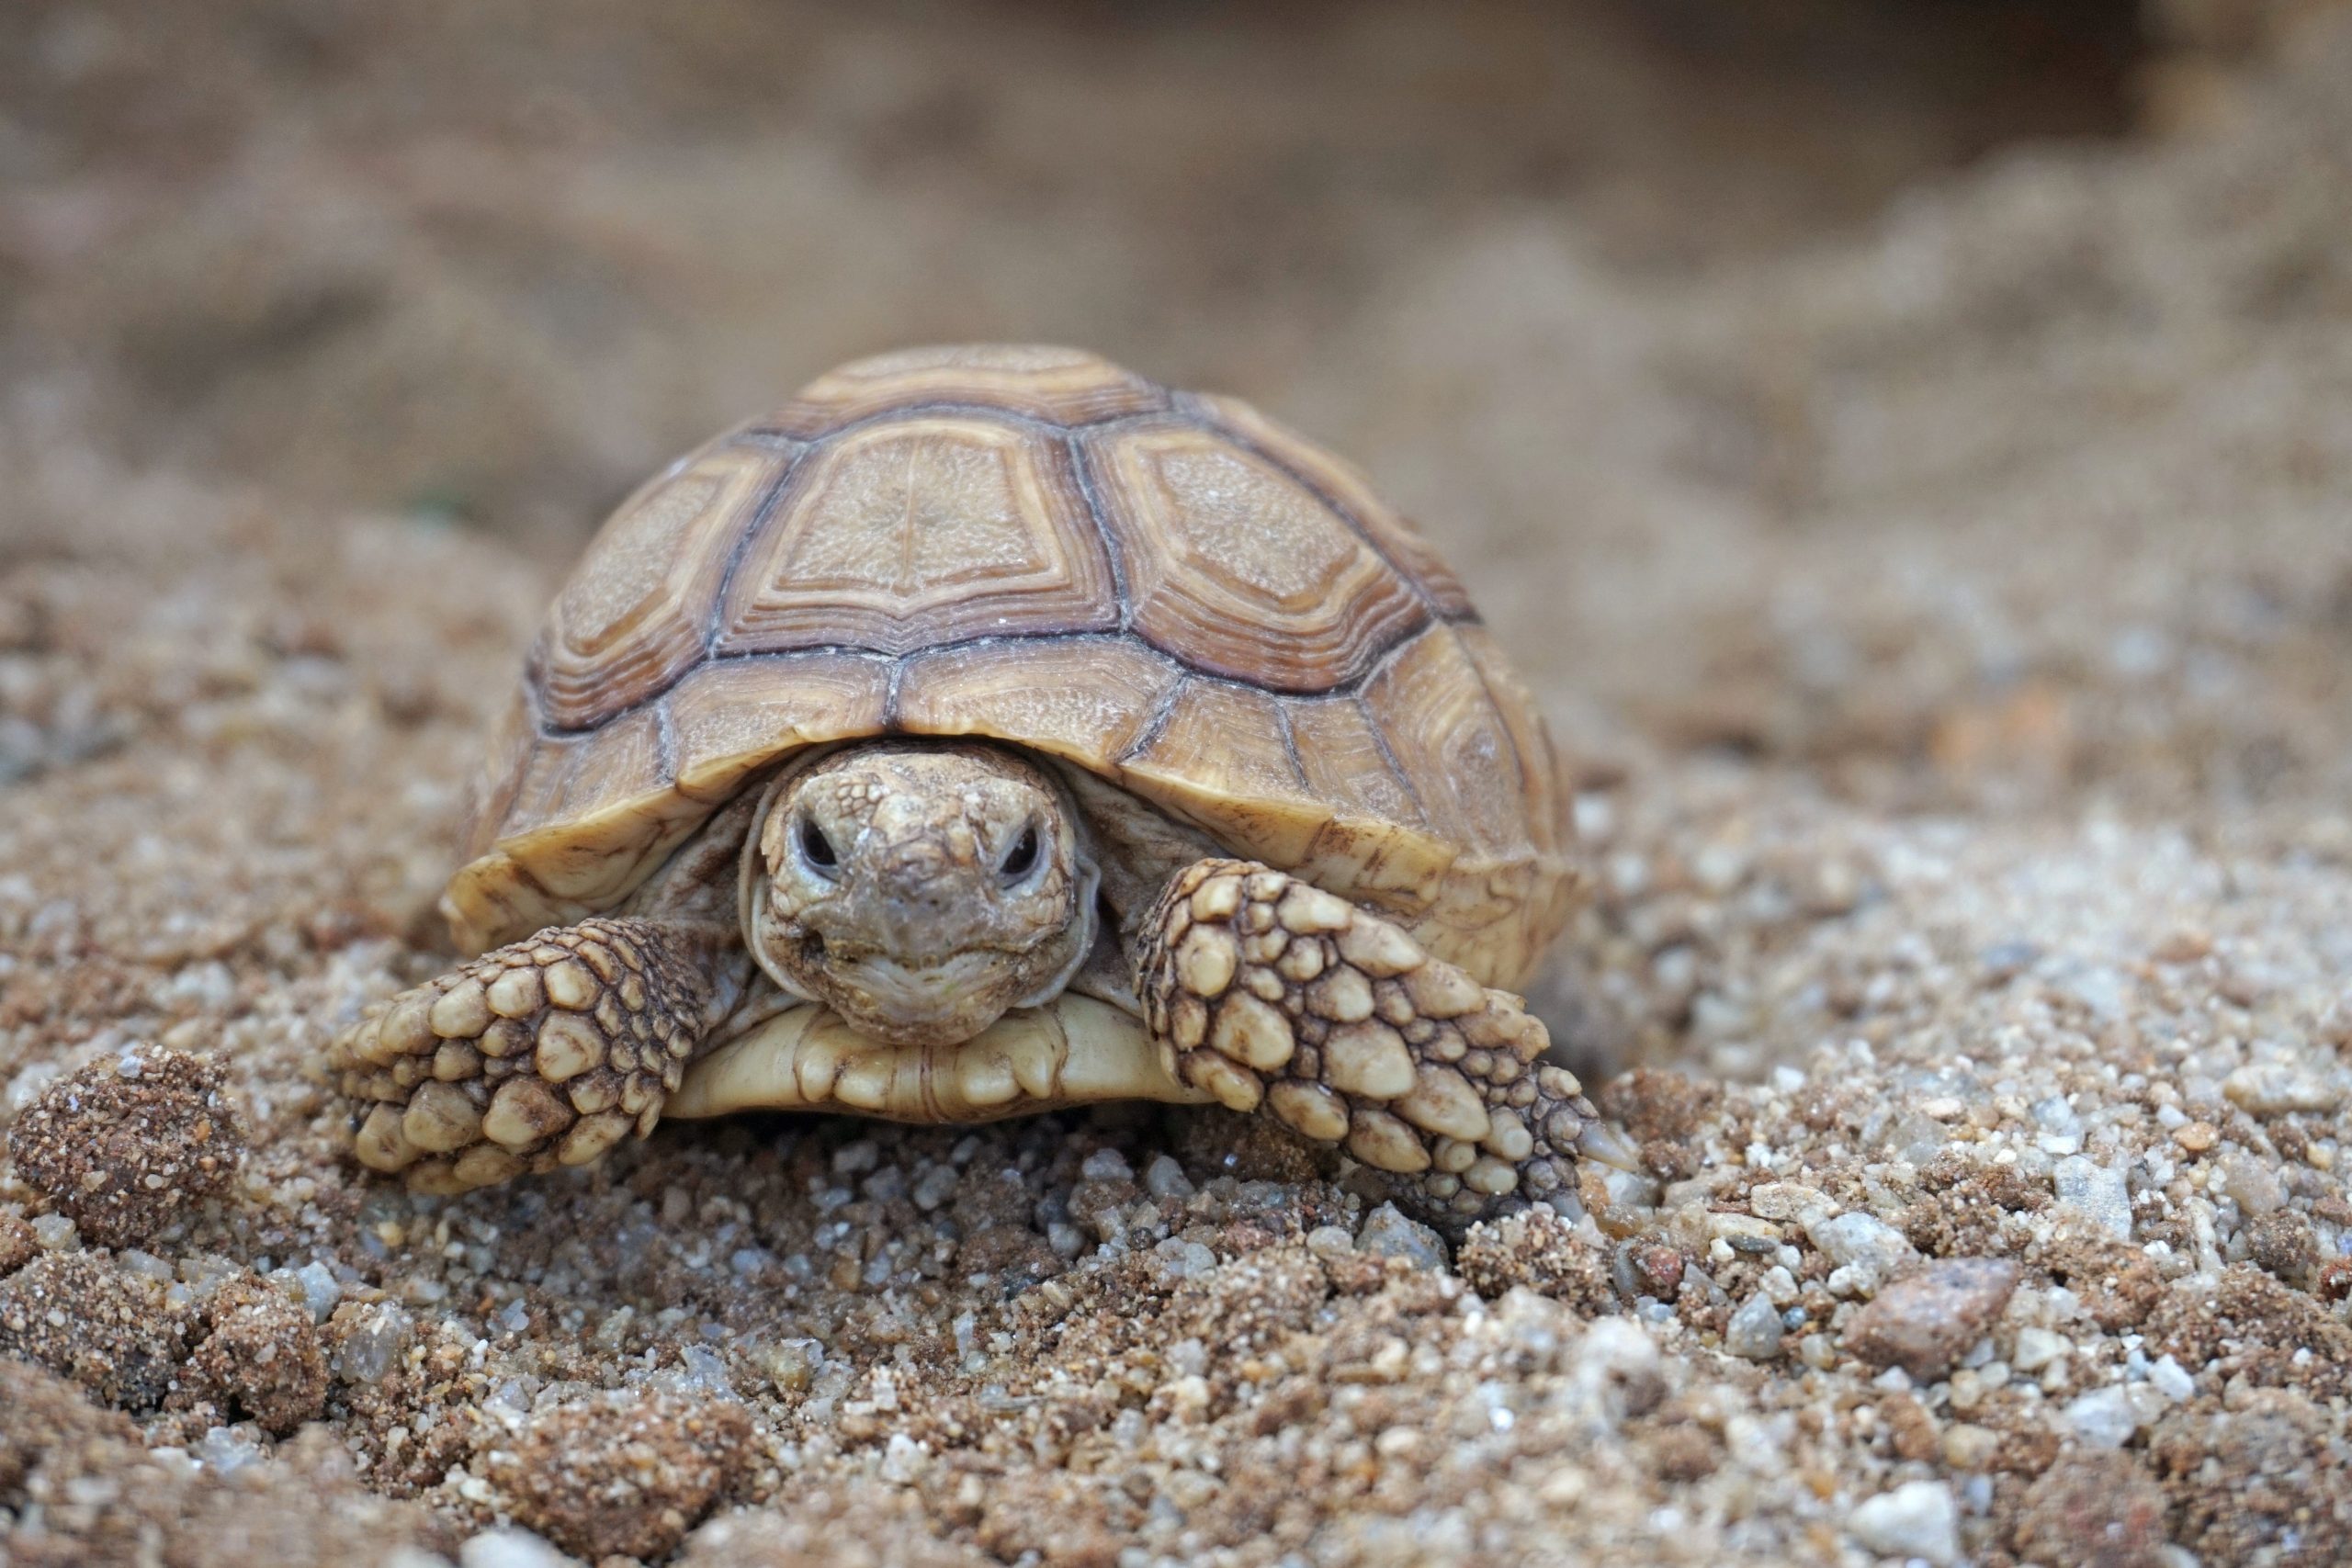
M 362 1166 L 466 1192 L 654 1131 L 708 1032 L 717 931 L 550 926 L 369 1009 L 327 1048 Z

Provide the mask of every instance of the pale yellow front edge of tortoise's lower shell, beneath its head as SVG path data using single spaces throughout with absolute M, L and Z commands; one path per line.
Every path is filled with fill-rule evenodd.
M 663 1117 L 828 1110 L 891 1121 L 995 1121 L 1098 1100 L 1200 1105 L 1143 1023 L 1063 992 L 957 1044 L 889 1044 L 840 1013 L 786 1009 L 687 1067 Z

